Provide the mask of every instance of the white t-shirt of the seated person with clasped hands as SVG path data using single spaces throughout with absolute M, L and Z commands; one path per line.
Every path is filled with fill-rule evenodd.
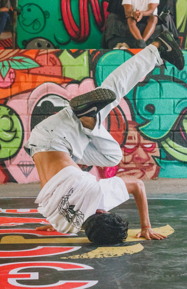
M 154 3 L 159 4 L 160 0 L 123 0 L 122 5 L 129 4 L 132 5 L 132 11 L 140 10 L 146 11 L 148 4 Z M 157 15 L 157 8 L 154 10 L 153 15 Z

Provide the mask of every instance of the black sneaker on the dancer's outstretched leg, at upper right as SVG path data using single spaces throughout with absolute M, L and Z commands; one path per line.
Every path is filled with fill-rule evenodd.
M 160 57 L 175 65 L 179 70 L 184 68 L 184 55 L 169 31 L 162 32 L 154 41 L 158 41 Z

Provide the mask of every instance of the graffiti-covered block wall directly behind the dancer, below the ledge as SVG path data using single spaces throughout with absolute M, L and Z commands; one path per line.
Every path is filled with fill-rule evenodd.
M 0 183 L 38 181 L 23 149 L 32 128 L 88 92 L 138 50 L 0 50 Z M 184 51 L 187 63 L 187 51 Z M 112 65 L 111 65 L 112 64 Z M 123 158 L 82 169 L 99 178 L 187 175 L 187 66 L 155 68 L 104 121 Z

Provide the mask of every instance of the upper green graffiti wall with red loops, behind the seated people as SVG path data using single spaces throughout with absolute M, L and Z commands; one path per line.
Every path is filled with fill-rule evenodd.
M 21 49 L 100 49 L 109 0 L 18 0 Z M 164 0 L 163 0 L 164 1 Z M 174 1 L 174 0 L 173 0 Z M 177 0 L 177 29 L 187 48 L 186 0 Z M 6 44 L 4 44 L 6 45 Z

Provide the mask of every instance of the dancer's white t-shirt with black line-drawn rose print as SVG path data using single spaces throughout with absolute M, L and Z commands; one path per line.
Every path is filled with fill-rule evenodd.
M 97 209 L 109 211 L 129 199 L 119 177 L 96 180 L 88 172 L 67 166 L 42 188 L 35 203 L 38 212 L 61 233 L 77 233 Z

